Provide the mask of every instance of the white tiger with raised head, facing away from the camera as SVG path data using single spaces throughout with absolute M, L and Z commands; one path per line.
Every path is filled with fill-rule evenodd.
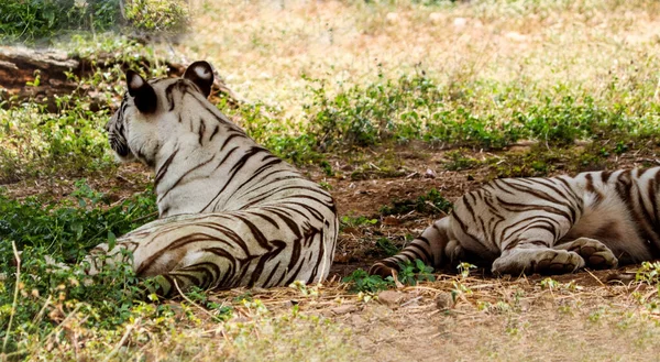
M 210 64 L 191 64 L 183 78 L 145 80 L 129 70 L 127 84 L 108 139 L 121 160 L 155 171 L 162 219 L 110 251 L 95 248 L 90 274 L 128 260 L 128 249 L 135 272 L 157 275 L 163 294 L 175 284 L 270 287 L 328 275 L 338 233 L 332 197 L 207 100 Z

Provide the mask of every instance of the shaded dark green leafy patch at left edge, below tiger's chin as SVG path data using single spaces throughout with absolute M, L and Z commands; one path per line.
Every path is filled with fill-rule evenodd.
M 0 195 L 0 240 L 13 240 L 20 250 L 40 249 L 56 261 L 76 262 L 109 235 L 127 233 L 156 216 L 151 190 L 109 207 L 105 195 L 91 190 L 85 180 L 76 182 L 76 186 L 72 196 L 79 207 L 34 197 L 19 201 Z M 0 245 L 3 260 L 12 259 L 8 244 Z

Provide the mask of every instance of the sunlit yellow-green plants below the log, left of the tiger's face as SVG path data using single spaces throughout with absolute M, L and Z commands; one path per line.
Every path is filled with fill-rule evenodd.
M 89 101 L 72 96 L 66 112 L 48 113 L 36 103 L 0 109 L 0 129 L 6 138 L 0 149 L 0 182 L 55 172 L 80 174 L 109 167 L 107 140 L 101 130 L 108 111 L 89 110 Z

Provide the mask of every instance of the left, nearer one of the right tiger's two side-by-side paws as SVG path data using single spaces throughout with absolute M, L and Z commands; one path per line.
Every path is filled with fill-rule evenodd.
M 493 262 L 493 274 L 565 274 L 584 267 L 578 253 L 553 249 L 512 250 Z

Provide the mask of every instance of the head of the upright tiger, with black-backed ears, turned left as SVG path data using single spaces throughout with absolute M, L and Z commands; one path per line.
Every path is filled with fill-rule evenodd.
M 139 160 L 153 168 L 167 139 L 177 136 L 178 114 L 189 111 L 177 107 L 183 96 L 176 90 L 186 88 L 206 99 L 211 92 L 213 69 L 207 62 L 195 62 L 182 78 L 145 80 L 133 70 L 128 70 L 125 77 L 128 91 L 106 124 L 108 141 L 120 161 Z

